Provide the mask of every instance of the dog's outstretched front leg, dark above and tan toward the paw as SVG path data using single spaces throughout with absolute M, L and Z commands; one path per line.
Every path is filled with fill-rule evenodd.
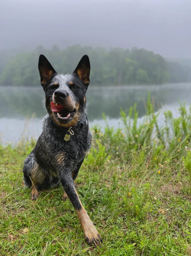
M 78 215 L 87 243 L 89 245 L 94 244 L 94 246 L 97 246 L 102 242 L 101 236 L 94 227 L 93 222 L 90 220 L 87 211 L 83 208 L 72 179 L 71 171 L 67 171 L 67 168 L 65 167 L 64 170 L 62 169 L 59 172 L 59 179 Z

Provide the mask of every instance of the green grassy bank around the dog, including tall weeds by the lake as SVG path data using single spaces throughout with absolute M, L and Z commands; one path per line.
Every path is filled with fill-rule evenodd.
M 191 109 L 165 112 L 164 127 L 149 99 L 146 112 L 139 124 L 136 105 L 121 112 L 123 130 L 93 127 L 76 184 L 103 238 L 97 248 L 61 186 L 30 200 L 22 167 L 35 142 L 0 146 L 0 255 L 191 255 Z

